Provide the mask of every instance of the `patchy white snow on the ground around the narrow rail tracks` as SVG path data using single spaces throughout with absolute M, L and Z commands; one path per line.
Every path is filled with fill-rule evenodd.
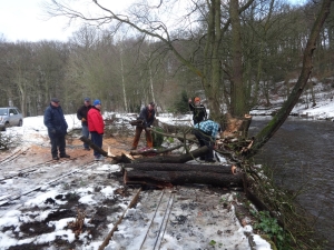
M 119 118 L 116 127 L 131 128 L 128 122 L 134 114 L 114 116 Z M 69 129 L 80 128 L 75 114 L 67 114 L 66 119 Z M 190 124 L 189 114 L 177 118 L 161 114 L 158 119 L 165 123 Z M 10 128 L 2 134 L 14 134 L 22 148 L 35 144 L 48 151 L 49 140 L 42 121 L 43 117 L 24 118 L 21 128 Z M 245 232 L 253 236 L 252 227 L 243 228 L 234 207 L 225 208 L 219 202 L 222 199 L 233 202 L 232 192 L 210 191 L 200 186 L 169 191 L 144 190 L 137 204 L 128 208 L 138 190 L 122 187 L 110 176 L 119 172 L 118 164 L 91 162 L 86 158 L 56 164 L 38 163 L 38 171 L 7 178 L 22 170 L 19 160 L 6 161 L 7 157 L 0 154 L 1 250 L 98 249 L 122 213 L 124 220 L 106 249 L 135 250 L 140 246 L 153 249 L 157 242 L 166 250 L 250 249 L 250 238 Z M 46 157 L 48 160 L 49 152 Z M 36 154 L 27 159 L 24 167 L 37 166 L 39 158 L 41 156 Z M 86 212 L 82 230 L 76 234 L 70 223 L 82 211 Z M 258 246 L 255 249 L 271 249 L 262 238 L 253 240 Z

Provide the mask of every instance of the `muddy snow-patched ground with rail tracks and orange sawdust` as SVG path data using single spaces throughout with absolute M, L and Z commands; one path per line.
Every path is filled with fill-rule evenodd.
M 85 151 L 78 138 L 67 144 L 71 160 L 58 162 L 50 161 L 48 138 L 41 139 L 12 160 L 6 159 L 18 149 L 0 154 L 0 216 L 10 221 L 0 227 L 7 242 L 0 249 L 98 249 L 122 214 L 106 249 L 154 249 L 157 242 L 158 249 L 252 248 L 250 232 L 240 230 L 240 224 L 252 224 L 243 192 L 202 184 L 125 187 L 115 174 L 119 167 L 111 159 L 94 161 L 92 150 Z M 105 138 L 104 150 L 128 153 L 131 141 L 130 136 Z M 164 207 L 165 196 L 169 203 Z M 164 224 L 156 241 L 154 224 Z M 143 242 L 140 248 L 136 242 Z

